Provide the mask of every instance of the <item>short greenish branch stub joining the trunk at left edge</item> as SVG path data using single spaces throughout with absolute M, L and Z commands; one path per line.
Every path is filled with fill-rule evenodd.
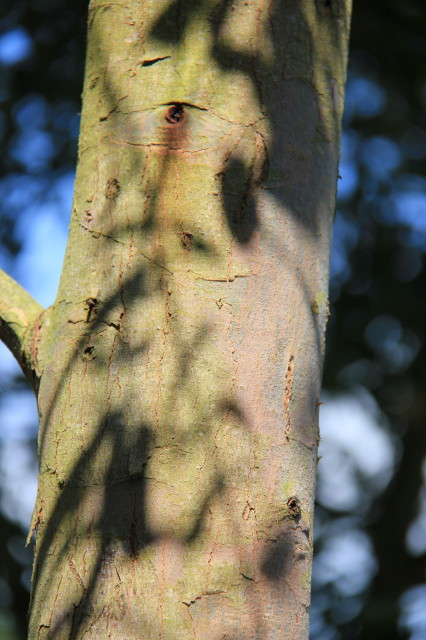
M 0 339 L 28 375 L 31 355 L 26 339 L 43 307 L 0 269 Z

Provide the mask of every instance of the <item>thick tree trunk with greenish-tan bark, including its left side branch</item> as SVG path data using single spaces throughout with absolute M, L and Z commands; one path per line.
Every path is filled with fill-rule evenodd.
M 92 0 L 31 639 L 308 637 L 349 0 Z M 19 317 L 20 320 L 16 320 Z

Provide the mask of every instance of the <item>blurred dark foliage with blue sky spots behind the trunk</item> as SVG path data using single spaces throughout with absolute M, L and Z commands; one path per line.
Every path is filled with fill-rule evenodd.
M 424 0 L 354 5 L 311 637 L 420 640 L 426 638 L 426 7 Z M 0 8 L 0 261 L 36 296 L 50 264 L 45 260 L 45 271 L 34 265 L 38 230 L 44 229 L 41 253 L 60 254 L 69 217 L 86 11 L 86 0 L 3 0 Z M 18 417 L 19 429 L 10 419 L 26 394 L 17 370 L 2 366 L 0 640 L 25 637 L 31 553 L 23 549 L 26 516 L 14 500 L 10 468 L 23 461 L 28 474 L 20 467 L 16 473 L 27 484 L 34 476 L 34 410 Z M 11 452 L 19 454 L 15 462 Z

